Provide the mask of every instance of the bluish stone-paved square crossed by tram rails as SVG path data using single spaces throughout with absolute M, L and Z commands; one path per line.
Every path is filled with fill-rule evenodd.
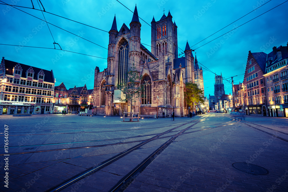
M 39 151 L 127 142 L 136 139 L 128 137 L 156 134 L 194 119 L 206 118 L 162 151 L 125 191 L 288 191 L 288 143 L 248 126 L 255 126 L 251 124 L 253 122 L 288 133 L 288 119 L 247 116 L 248 122 L 232 123 L 228 116 L 230 115 L 212 113 L 192 119 L 141 119 L 140 122 L 133 123 L 120 122 L 119 117 L 77 115 L 1 116 L 0 120 L 1 124 L 8 124 L 11 128 L 11 147 L 38 144 L 42 146 L 34 150 Z M 261 126 L 255 127 L 288 139 L 285 134 Z M 201 131 L 191 132 L 194 130 Z M 27 134 L 31 135 L 27 137 Z M 84 142 L 124 137 L 126 139 Z M 109 191 L 113 183 L 117 183 L 166 140 L 167 138 L 163 138 L 148 143 L 121 161 L 116 161 L 91 175 L 80 187 L 74 184 L 62 191 Z M 64 142 L 67 144 L 43 145 Z M 133 145 L 136 144 L 10 155 L 9 191 L 45 191 Z M 3 147 L 3 142 L 0 142 L 0 147 Z M 9 153 L 20 151 L 19 148 L 9 149 Z M 3 157 L 0 156 L 1 175 L 4 175 Z M 266 168 L 269 174 L 253 175 L 241 172 L 232 167 L 235 162 L 256 164 Z M 3 187 L 3 181 L 0 190 L 7 191 Z

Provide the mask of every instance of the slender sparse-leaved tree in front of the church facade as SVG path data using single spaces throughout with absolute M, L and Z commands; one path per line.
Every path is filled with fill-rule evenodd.
M 139 72 L 133 64 L 133 67 L 130 68 L 126 77 L 126 79 L 122 79 L 122 83 L 117 85 L 117 89 L 121 90 L 123 94 L 126 95 L 125 99 L 119 99 L 120 101 L 130 102 L 130 112 L 132 112 L 132 103 L 139 101 L 143 90 L 143 85 L 140 85 L 142 76 L 139 76 Z

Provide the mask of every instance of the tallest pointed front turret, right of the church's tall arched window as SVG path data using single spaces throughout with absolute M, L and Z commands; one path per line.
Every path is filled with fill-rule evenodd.
M 135 6 L 134 14 L 132 17 L 132 21 L 130 22 L 130 49 L 129 49 L 129 57 L 130 57 L 130 68 L 136 67 L 136 70 L 139 71 L 139 64 L 140 64 L 140 45 L 141 45 L 141 38 L 140 38 L 140 31 L 141 31 L 141 23 L 139 22 L 137 6 Z

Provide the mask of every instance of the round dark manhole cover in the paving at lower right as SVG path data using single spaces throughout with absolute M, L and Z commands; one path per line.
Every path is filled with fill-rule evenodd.
M 267 175 L 269 174 L 269 171 L 263 167 L 254 165 L 254 164 L 248 164 L 245 162 L 239 162 L 239 163 L 233 163 L 232 166 L 235 169 L 238 169 L 240 171 L 243 171 L 245 173 L 253 174 L 253 175 Z

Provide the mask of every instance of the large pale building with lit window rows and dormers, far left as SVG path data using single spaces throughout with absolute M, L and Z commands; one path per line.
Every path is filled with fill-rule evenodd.
M 0 64 L 0 115 L 53 112 L 53 71 L 6 60 Z

